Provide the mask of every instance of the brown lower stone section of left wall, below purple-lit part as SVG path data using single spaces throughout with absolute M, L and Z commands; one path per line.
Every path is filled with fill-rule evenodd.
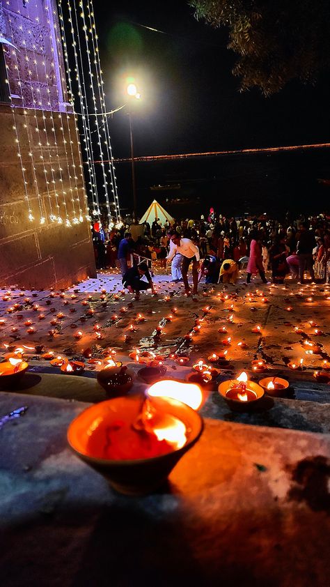
M 47 114 L 0 105 L 1 287 L 67 287 L 96 273 L 74 116 Z

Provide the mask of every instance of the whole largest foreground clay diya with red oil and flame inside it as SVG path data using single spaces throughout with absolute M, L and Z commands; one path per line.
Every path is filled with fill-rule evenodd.
M 118 397 L 83 411 L 68 429 L 71 448 L 121 493 L 162 485 L 198 441 L 203 420 L 169 397 Z

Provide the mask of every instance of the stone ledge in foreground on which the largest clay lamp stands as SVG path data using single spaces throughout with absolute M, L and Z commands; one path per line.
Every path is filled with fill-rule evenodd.
M 1 583 L 6 587 L 324 587 L 328 435 L 205 421 L 168 485 L 128 498 L 70 452 L 88 404 L 1 393 Z

